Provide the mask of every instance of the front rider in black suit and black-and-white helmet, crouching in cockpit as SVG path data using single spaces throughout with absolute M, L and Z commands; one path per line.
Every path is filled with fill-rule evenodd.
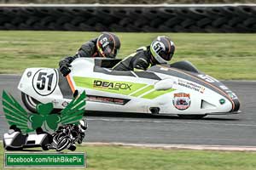
M 169 37 L 158 36 L 148 47 L 138 48 L 136 53 L 129 55 L 113 67 L 114 71 L 146 71 L 149 66 L 166 64 L 172 59 L 175 45 Z

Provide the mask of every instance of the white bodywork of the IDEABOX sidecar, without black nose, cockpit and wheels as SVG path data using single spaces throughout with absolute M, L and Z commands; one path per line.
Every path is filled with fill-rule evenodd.
M 160 77 L 161 80 L 138 77 L 136 73 L 131 76 L 109 75 L 111 70 L 105 68 L 105 72 L 94 71 L 94 59 L 76 59 L 72 63 L 72 72 L 69 74 L 73 87 L 79 90 L 79 93 L 85 90 L 87 95 L 101 96 L 114 99 L 129 100 L 125 105 L 117 105 L 108 102 L 98 102 L 87 98 L 85 109 L 88 111 L 116 111 L 116 112 L 142 112 L 150 113 L 149 108 L 158 107 L 160 114 L 218 114 L 229 113 L 232 109 L 232 104 L 227 97 L 218 94 L 210 88 L 206 88 L 195 82 L 190 82 L 179 77 L 173 77 L 163 73 L 154 74 Z M 49 78 L 52 77 L 51 87 L 42 86 L 42 80 L 38 74 L 45 72 L 41 78 L 45 77 L 45 84 L 49 84 Z M 31 76 L 28 76 L 31 73 Z M 52 76 L 51 76 L 52 75 Z M 63 99 L 60 87 L 58 85 L 59 77 L 55 69 L 47 68 L 29 68 L 21 77 L 19 89 L 23 93 L 30 95 L 42 103 L 53 102 L 55 108 L 63 108 L 64 102 L 70 102 L 71 99 Z M 81 86 L 81 82 L 76 82 L 74 77 L 88 80 L 87 84 Z M 38 81 L 39 79 L 39 81 Z M 44 79 L 44 78 L 43 78 Z M 108 88 L 96 88 L 93 81 L 101 80 L 103 83 L 107 81 L 122 82 L 131 86 L 125 90 L 108 90 Z M 137 85 L 140 84 L 140 85 Z M 143 84 L 143 85 L 142 85 Z M 181 84 L 189 84 L 189 88 Z M 89 87 L 89 88 L 88 88 Z M 135 87 L 138 87 L 135 89 Z M 152 87 L 152 88 L 151 88 Z M 192 87 L 192 88 L 191 88 Z M 38 89 L 40 88 L 40 89 Z M 154 95 L 154 91 L 162 93 Z M 150 97 L 150 95 L 154 97 Z M 148 97 L 149 96 L 149 97 Z M 224 99 L 224 104 L 220 104 L 219 100 Z

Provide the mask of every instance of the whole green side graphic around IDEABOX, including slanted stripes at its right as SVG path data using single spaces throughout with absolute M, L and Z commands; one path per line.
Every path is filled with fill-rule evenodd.
M 127 83 L 131 85 L 131 90 L 129 89 L 111 89 L 111 88 L 97 88 L 94 87 L 94 81 L 102 81 L 102 82 L 113 82 L 113 83 Z M 90 89 L 96 89 L 102 92 L 109 92 L 113 94 L 124 94 L 124 95 L 129 95 L 131 93 L 134 93 L 140 88 L 143 88 L 142 90 L 139 90 L 137 93 L 132 94 L 131 96 L 137 97 L 139 95 L 147 93 L 149 90 L 154 89 L 153 85 L 149 85 L 147 88 L 144 88 L 148 84 L 143 84 L 143 83 L 134 83 L 134 82 L 117 82 L 117 81 L 111 81 L 111 80 L 104 80 L 100 78 L 91 78 L 91 77 L 73 77 L 73 81 L 75 82 L 76 86 L 79 86 L 81 88 L 90 88 Z M 175 89 L 169 89 L 169 90 L 160 90 L 160 91 L 152 91 L 149 94 L 143 95 L 142 98 L 144 99 L 154 99 L 162 94 L 167 94 Z

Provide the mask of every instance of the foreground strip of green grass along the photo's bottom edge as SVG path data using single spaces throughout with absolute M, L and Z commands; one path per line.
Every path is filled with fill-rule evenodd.
M 3 153 L 3 147 L 1 147 L 0 151 Z M 255 152 L 160 150 L 121 146 L 80 146 L 76 151 L 87 152 L 88 170 L 256 169 Z M 3 154 L 0 156 L 0 168 L 3 168 Z M 29 170 L 31 168 L 22 169 Z M 36 169 L 39 168 L 33 168 L 33 170 Z M 72 169 L 75 170 L 79 168 Z

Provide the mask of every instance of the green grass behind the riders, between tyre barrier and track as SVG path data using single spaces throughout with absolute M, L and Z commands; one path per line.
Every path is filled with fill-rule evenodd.
M 0 31 L 0 73 L 21 73 L 27 67 L 57 67 L 81 44 L 99 32 Z M 256 80 L 256 34 L 117 33 L 122 45 L 119 58 L 167 35 L 176 44 L 172 62 L 189 60 L 218 79 Z

